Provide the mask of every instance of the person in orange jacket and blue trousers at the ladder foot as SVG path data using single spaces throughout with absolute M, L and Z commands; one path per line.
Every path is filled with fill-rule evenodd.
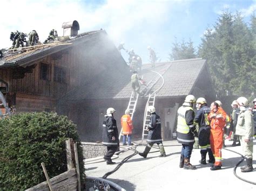
M 128 142 L 128 145 L 132 145 L 132 130 L 133 130 L 133 125 L 132 125 L 132 119 L 130 116 L 130 109 L 125 110 L 125 115 L 121 117 L 121 125 L 122 125 L 122 135 L 123 135 L 123 145 L 126 144 L 126 139 Z

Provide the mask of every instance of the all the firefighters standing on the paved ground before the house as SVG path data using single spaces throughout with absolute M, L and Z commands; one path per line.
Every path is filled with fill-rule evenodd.
M 196 166 L 190 164 L 190 158 L 195 142 L 198 137 L 201 160 L 200 164 L 206 165 L 207 162 L 212 163 L 211 171 L 221 169 L 221 148 L 224 144 L 224 127 L 227 121 L 233 122 L 234 143 L 240 142 L 242 151 L 244 152 L 246 165 L 241 167 L 241 172 L 253 171 L 252 154 L 253 154 L 253 137 L 256 137 L 256 98 L 253 100 L 253 109 L 249 107 L 249 102 L 245 97 L 239 97 L 231 104 L 233 111 L 230 117 L 221 107 L 220 101 L 212 102 L 208 107 L 204 97 L 196 97 L 187 95 L 184 103 L 177 111 L 177 140 L 182 145 L 179 167 L 184 169 L 196 169 Z M 195 114 L 193 107 L 196 104 L 197 113 Z M 119 147 L 118 129 L 116 119 L 113 114 L 115 109 L 109 108 L 106 112 L 106 119 L 103 123 L 103 144 L 107 146 L 107 153 L 104 159 L 107 164 L 115 164 L 111 160 L 114 152 Z M 159 115 L 156 114 L 154 106 L 147 107 L 150 113 L 150 125 L 147 126 L 149 131 L 147 136 L 147 145 L 144 152 L 138 154 L 146 158 L 151 147 L 156 143 L 160 150 L 159 157 L 166 157 L 164 145 L 161 139 L 161 122 Z M 125 111 L 125 115 L 121 118 L 123 145 L 131 145 L 132 121 L 130 118 L 130 110 Z M 198 129 L 197 129 L 198 126 Z M 239 140 L 238 140 L 239 139 Z M 232 144 L 233 145 L 233 144 Z M 208 153 L 208 160 L 206 155 Z

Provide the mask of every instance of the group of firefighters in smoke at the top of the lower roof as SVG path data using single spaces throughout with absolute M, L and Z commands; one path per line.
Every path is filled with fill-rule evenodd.
M 142 70 L 142 58 L 139 55 L 134 53 L 133 48 L 131 48 L 131 50 L 128 51 L 127 49 L 124 48 L 124 43 L 120 43 L 117 49 L 119 52 L 121 52 L 121 50 L 123 49 L 127 54 L 129 54 L 128 60 L 129 60 L 129 66 L 130 66 L 131 72 L 137 71 L 138 69 L 139 71 Z M 157 61 L 156 53 L 150 46 L 148 46 L 147 49 L 149 50 L 149 54 L 150 54 L 151 66 L 154 67 Z

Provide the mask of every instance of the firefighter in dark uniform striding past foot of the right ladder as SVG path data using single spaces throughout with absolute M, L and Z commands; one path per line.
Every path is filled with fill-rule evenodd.
M 166 157 L 164 145 L 161 138 L 161 121 L 160 117 L 156 114 L 156 108 L 153 105 L 150 105 L 147 108 L 147 112 L 150 112 L 150 125 L 147 127 L 149 135 L 147 135 L 147 146 L 145 147 L 144 152 L 139 155 L 146 158 L 147 154 L 150 152 L 151 147 L 156 143 L 160 150 L 159 157 Z

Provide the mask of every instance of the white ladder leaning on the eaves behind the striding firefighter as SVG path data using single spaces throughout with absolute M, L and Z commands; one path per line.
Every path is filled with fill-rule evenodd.
M 144 121 L 143 121 L 143 131 L 142 131 L 142 142 L 147 135 L 149 135 L 149 131 L 147 131 L 147 126 L 150 125 L 150 114 L 147 113 L 147 108 L 150 105 L 154 106 L 154 101 L 156 100 L 156 93 L 149 95 L 149 98 L 147 99 L 145 112 L 144 112 Z

